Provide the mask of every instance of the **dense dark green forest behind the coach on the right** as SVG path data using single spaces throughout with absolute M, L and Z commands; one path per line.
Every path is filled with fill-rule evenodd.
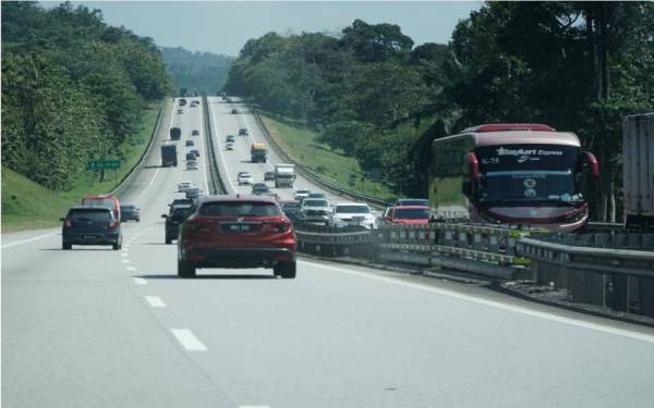
M 488 2 L 448 45 L 360 20 L 337 37 L 269 33 L 245 44 L 226 90 L 421 196 L 436 137 L 486 122 L 571 131 L 603 163 L 595 218 L 611 219 L 622 118 L 654 107 L 654 3 Z

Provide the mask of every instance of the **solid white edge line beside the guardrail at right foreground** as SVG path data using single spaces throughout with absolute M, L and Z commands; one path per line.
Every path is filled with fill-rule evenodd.
M 453 292 L 453 290 L 449 290 L 449 289 L 444 289 L 444 288 L 433 287 L 433 286 L 425 286 L 425 285 L 422 285 L 419 283 L 413 283 L 413 282 L 404 282 L 404 281 L 401 281 L 396 277 L 378 276 L 378 275 L 375 275 L 370 272 L 353 271 L 353 270 L 348 270 L 348 269 L 344 269 L 341 267 L 326 265 L 323 263 L 308 262 L 308 261 L 304 261 L 304 260 L 299 261 L 299 262 L 307 264 L 307 265 L 312 265 L 315 268 L 322 268 L 322 269 L 326 269 L 326 270 L 348 273 L 351 275 L 356 275 L 356 276 L 366 277 L 366 279 L 371 279 L 371 280 L 376 280 L 376 281 L 382 281 L 382 282 L 391 283 L 391 284 L 396 284 L 396 285 L 401 285 L 404 287 L 410 287 L 410 288 L 420 289 L 420 290 L 424 290 L 424 292 L 431 292 L 431 293 L 439 294 L 443 296 L 448 296 L 451 298 L 470 301 L 470 302 L 477 304 L 477 305 L 489 306 L 493 308 L 512 311 L 512 312 L 521 313 L 521 314 L 526 314 L 526 316 L 531 316 L 534 318 L 545 319 L 545 320 L 549 320 L 549 321 L 554 321 L 554 322 L 558 322 L 558 323 L 564 323 L 564 324 L 573 325 L 573 326 L 583 327 L 583 329 L 590 329 L 590 330 L 594 330 L 597 332 L 614 334 L 614 335 L 628 337 L 628 338 L 632 338 L 632 339 L 639 339 L 642 342 L 654 343 L 654 335 L 651 335 L 651 334 L 632 332 L 632 331 L 625 330 L 625 329 L 610 327 L 610 326 L 602 325 L 598 323 L 592 323 L 592 322 L 586 322 L 586 321 L 579 320 L 579 319 L 566 318 L 566 317 L 558 316 L 558 314 L 552 314 L 552 313 L 547 313 L 547 312 L 532 310 L 532 309 L 528 309 L 528 308 L 524 308 L 521 306 L 507 305 L 507 304 L 502 304 L 502 302 L 495 301 L 495 300 L 482 299 L 482 298 L 477 298 L 477 297 L 470 296 L 470 295 L 463 295 L 458 292 Z

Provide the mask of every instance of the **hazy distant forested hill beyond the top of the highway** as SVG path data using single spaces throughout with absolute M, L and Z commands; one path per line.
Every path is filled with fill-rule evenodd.
M 174 87 L 199 95 L 215 95 L 225 85 L 233 60 L 210 52 L 191 52 L 181 47 L 161 47 L 160 50 Z

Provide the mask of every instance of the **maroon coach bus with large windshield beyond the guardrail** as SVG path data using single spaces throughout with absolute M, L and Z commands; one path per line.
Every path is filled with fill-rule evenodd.
M 598 176 L 573 133 L 531 123 L 470 127 L 433 143 L 431 219 L 576 231 L 588 222 L 583 193 Z

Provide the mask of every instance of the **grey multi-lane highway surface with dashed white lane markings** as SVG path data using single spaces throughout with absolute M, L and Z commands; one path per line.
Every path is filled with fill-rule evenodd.
M 63 251 L 57 228 L 2 235 L 3 407 L 654 406 L 652 329 L 308 258 L 295 280 L 218 269 L 178 279 L 160 215 L 179 182 L 208 190 L 205 138 L 232 193 L 250 190 L 235 186 L 239 171 L 258 182 L 279 159 L 249 163 L 263 135 L 241 104 L 231 114 L 209 98 L 205 135 L 202 104 L 178 114 L 177 103 L 156 143 L 178 124 L 179 157 L 193 139 L 199 171 L 160 168 L 153 149 L 120 197 L 142 213 L 123 224 L 122 250 Z

